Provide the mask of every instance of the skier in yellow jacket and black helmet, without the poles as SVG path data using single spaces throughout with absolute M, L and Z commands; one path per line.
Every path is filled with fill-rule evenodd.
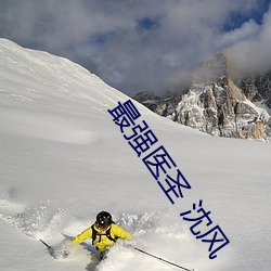
M 103 210 L 96 215 L 96 221 L 78 234 L 73 243 L 80 244 L 87 238 L 92 238 L 92 245 L 100 251 L 100 258 L 102 259 L 118 238 L 130 241 L 132 237 L 122 228 L 114 223 L 109 212 Z

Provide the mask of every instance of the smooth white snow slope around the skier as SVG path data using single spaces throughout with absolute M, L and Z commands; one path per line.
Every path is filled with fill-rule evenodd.
M 192 185 L 172 205 L 107 112 L 128 99 L 68 60 L 0 39 L 0 270 L 177 270 L 122 244 L 99 263 L 90 241 L 67 259 L 39 242 L 57 248 L 103 209 L 132 245 L 185 268 L 271 270 L 271 145 L 209 137 L 134 102 Z M 231 242 L 212 260 L 180 217 L 199 199 Z

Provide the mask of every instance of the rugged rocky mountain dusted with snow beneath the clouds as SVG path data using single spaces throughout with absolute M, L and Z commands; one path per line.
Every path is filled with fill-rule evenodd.
M 225 54 L 217 54 L 193 74 L 185 93 L 134 99 L 155 113 L 199 131 L 227 138 L 271 138 L 270 74 L 233 78 Z M 145 96 L 145 98 L 144 98 Z

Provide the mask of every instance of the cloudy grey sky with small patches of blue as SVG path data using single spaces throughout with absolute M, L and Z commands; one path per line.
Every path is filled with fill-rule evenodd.
M 211 55 L 271 67 L 271 0 L 0 0 L 0 37 L 62 55 L 134 95 Z

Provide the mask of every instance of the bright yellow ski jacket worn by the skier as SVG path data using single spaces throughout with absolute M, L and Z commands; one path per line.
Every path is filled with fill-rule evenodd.
M 92 240 L 93 245 L 95 245 L 96 249 L 100 253 L 105 251 L 108 247 L 111 247 L 115 242 L 113 240 L 121 238 L 121 240 L 131 240 L 131 235 L 126 232 L 119 225 L 112 223 L 107 229 L 101 230 L 95 224 L 93 224 L 94 230 L 96 231 L 95 240 Z M 113 240 L 106 236 L 106 232 L 109 230 L 109 235 Z M 82 233 L 78 234 L 74 240 L 73 243 L 80 244 L 87 238 L 92 238 L 92 229 L 89 227 Z

